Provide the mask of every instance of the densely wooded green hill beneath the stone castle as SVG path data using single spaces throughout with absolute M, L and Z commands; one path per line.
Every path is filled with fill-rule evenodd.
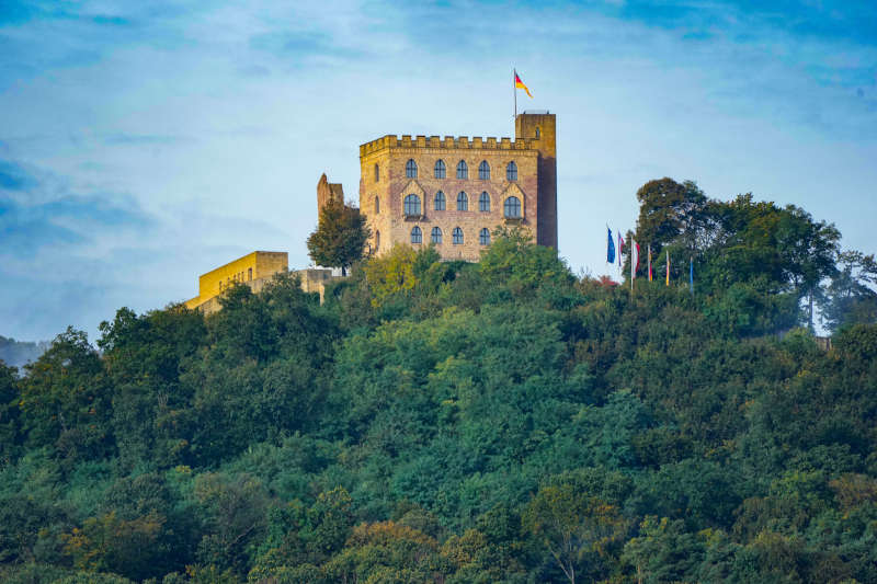
M 670 286 L 511 231 L 0 368 L 0 580 L 877 582 L 873 257 L 794 207 L 639 196 Z

